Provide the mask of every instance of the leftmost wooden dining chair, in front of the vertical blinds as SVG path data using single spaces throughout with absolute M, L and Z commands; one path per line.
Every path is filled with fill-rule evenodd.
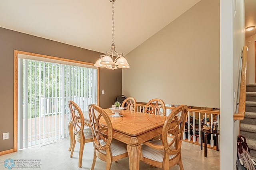
M 82 158 L 84 152 L 84 144 L 92 142 L 92 130 L 90 128 L 84 129 L 84 115 L 80 107 L 73 101 L 68 101 L 68 107 L 72 116 L 74 140 L 71 149 L 70 157 L 73 156 L 76 142 L 80 143 L 78 167 L 82 166 Z

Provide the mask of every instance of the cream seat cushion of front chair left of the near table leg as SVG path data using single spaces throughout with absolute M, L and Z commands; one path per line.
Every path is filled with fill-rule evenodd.
M 102 141 L 100 144 L 104 145 L 104 141 Z M 127 152 L 126 149 L 126 144 L 122 143 L 116 139 L 113 139 L 111 144 L 110 144 L 110 148 L 111 148 L 111 152 L 112 152 L 112 156 L 118 156 L 120 154 L 124 154 Z M 100 150 L 100 152 L 106 154 L 106 150 Z

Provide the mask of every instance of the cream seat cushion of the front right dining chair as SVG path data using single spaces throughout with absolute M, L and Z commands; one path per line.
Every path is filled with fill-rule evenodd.
M 161 140 L 150 141 L 150 143 L 154 145 L 162 145 Z M 174 146 L 171 146 L 170 148 L 175 149 Z M 163 159 L 164 159 L 164 149 L 156 150 L 151 147 L 148 147 L 147 145 L 142 145 L 142 154 L 143 154 L 143 157 L 157 161 L 157 162 L 163 162 Z M 176 154 L 170 155 L 169 159 L 174 158 L 174 156 L 176 156 Z

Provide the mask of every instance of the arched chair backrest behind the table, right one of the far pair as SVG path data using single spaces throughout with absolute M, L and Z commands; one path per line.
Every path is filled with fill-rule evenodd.
M 161 99 L 150 100 L 144 108 L 144 113 L 165 116 L 166 114 L 165 112 L 166 112 L 166 107 L 165 107 L 164 101 L 162 101 Z

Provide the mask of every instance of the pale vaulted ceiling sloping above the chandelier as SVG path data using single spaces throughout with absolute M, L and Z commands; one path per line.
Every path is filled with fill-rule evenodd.
M 126 55 L 199 1 L 116 0 L 116 51 Z M 249 8 L 248 4 L 255 0 L 245 2 Z M 246 17 L 251 15 L 247 13 Z M 112 44 L 112 3 L 109 0 L 1 0 L 0 27 L 105 53 Z

